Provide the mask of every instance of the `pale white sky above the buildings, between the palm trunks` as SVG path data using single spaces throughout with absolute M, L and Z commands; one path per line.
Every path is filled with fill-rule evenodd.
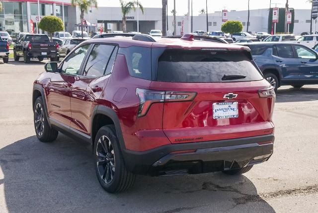
M 98 6 L 120 6 L 119 0 L 97 0 Z M 129 1 L 129 0 L 126 0 Z M 248 0 L 208 0 L 208 13 L 220 11 L 224 7 L 228 10 L 247 10 Z M 161 0 L 139 0 L 144 7 L 161 7 Z M 176 14 L 184 15 L 188 11 L 188 0 L 175 0 Z M 198 15 L 199 10 L 205 8 L 206 0 L 193 0 L 193 15 Z M 271 0 L 272 3 L 278 3 L 277 7 L 285 7 L 286 0 Z M 250 9 L 268 8 L 270 0 L 250 0 Z M 272 4 L 275 7 L 275 4 Z M 289 0 L 289 7 L 295 9 L 311 9 L 311 4 L 307 0 Z M 173 9 L 173 0 L 168 0 L 168 14 Z

